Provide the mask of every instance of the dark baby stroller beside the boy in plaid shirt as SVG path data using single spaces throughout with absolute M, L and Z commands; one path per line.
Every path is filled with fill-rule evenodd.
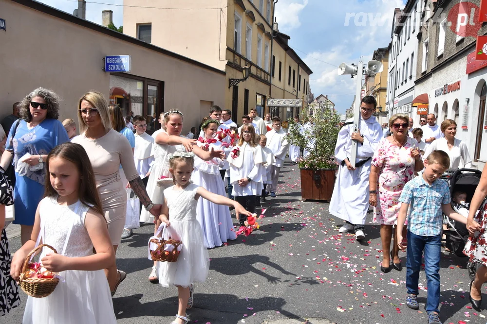
M 466 203 L 470 203 L 473 194 L 475 193 L 475 189 L 480 182 L 481 175 L 481 171 L 474 169 L 459 169 L 455 171 L 449 179 L 450 195 L 453 196 L 453 193 L 456 191 L 466 192 Z M 454 202 L 451 202 L 451 206 L 456 212 L 458 212 L 459 207 L 462 207 L 462 205 Z M 451 220 L 446 217 L 446 215 L 444 215 L 444 221 L 447 225 L 447 229 L 443 230 L 443 234 L 445 234 L 446 237 L 445 246 L 456 256 L 465 257 L 463 249 L 468 239 L 467 226 L 461 222 Z M 470 264 L 470 262 L 468 262 L 467 269 L 471 278 L 475 276 L 478 266 L 478 264 Z

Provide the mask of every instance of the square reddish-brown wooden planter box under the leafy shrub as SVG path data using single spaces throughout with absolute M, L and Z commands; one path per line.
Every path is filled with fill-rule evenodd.
M 330 201 L 335 186 L 333 169 L 300 169 L 301 170 L 301 199 Z

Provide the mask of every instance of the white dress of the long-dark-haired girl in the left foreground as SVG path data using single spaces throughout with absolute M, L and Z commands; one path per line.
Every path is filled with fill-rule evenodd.
M 93 255 L 93 244 L 84 221 L 90 207 L 80 204 L 62 206 L 56 198 L 44 198 L 40 203 L 43 242 L 62 253 L 70 225 L 73 224 L 65 256 Z M 44 231 L 42 231 L 44 228 Z M 40 258 L 52 251 L 43 248 Z M 116 324 L 112 296 L 105 272 L 67 270 L 52 294 L 44 298 L 28 297 L 23 324 Z M 64 281 L 63 281 L 64 279 Z

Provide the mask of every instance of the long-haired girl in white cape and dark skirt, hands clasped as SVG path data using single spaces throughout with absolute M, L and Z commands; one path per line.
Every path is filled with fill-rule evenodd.
M 230 163 L 232 195 L 246 210 L 254 213 L 255 197 L 263 189 L 262 177 L 265 177 L 265 168 L 262 163 L 266 159 L 252 124 L 242 126 L 239 142 L 230 152 L 227 160 Z M 241 226 L 244 226 L 246 219 L 246 217 L 240 218 Z

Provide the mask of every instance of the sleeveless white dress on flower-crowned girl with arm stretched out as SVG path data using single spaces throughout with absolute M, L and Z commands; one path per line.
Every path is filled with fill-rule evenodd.
M 157 262 L 157 273 L 163 287 L 188 287 L 190 283 L 205 282 L 210 261 L 203 245 L 203 231 L 196 220 L 198 201 L 194 197 L 199 186 L 189 184 L 184 190 L 174 188 L 164 190 L 171 222 L 164 237 L 170 235 L 172 239 L 181 240 L 183 248 L 176 262 Z

